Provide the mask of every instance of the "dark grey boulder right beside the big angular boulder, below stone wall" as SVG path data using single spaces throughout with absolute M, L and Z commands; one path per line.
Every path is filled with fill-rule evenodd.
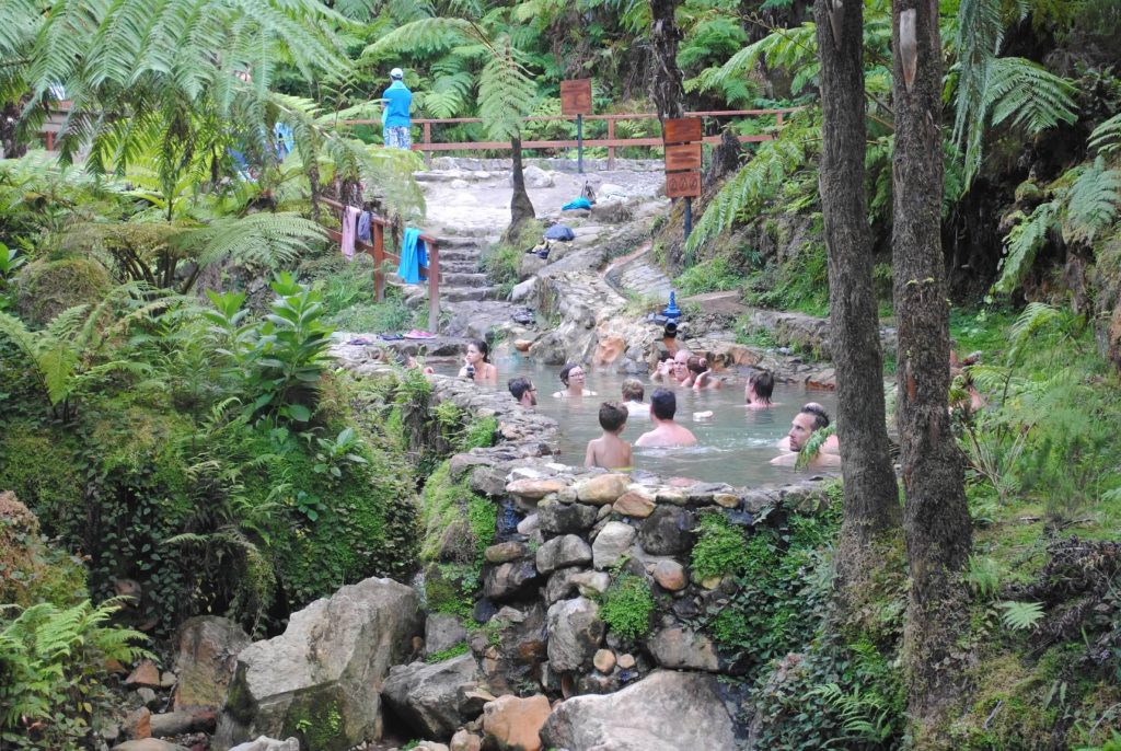
M 398 665 L 390 669 L 381 696 L 418 735 L 448 738 L 482 712 L 483 699 L 475 693 L 482 679 L 471 655 L 434 665 Z

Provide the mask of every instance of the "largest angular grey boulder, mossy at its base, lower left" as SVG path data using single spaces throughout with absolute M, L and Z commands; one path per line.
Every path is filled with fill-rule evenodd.
M 303 735 L 315 751 L 344 751 L 380 739 L 383 680 L 421 624 L 417 593 L 388 578 L 316 600 L 238 656 L 214 748 Z

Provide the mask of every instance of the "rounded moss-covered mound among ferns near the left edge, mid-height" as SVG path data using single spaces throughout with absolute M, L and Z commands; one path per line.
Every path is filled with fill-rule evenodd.
M 105 267 L 90 258 L 35 261 L 19 275 L 16 309 L 41 325 L 66 308 L 100 302 L 112 286 Z

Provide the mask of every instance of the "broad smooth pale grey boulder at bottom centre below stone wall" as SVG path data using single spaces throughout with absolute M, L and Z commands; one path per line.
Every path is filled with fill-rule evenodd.
M 732 717 L 715 678 L 656 671 L 606 695 L 562 703 L 541 730 L 546 747 L 567 751 L 732 749 Z

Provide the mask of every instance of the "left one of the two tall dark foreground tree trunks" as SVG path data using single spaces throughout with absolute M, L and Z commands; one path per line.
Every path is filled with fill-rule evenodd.
M 840 38 L 834 38 L 840 20 Z M 836 367 L 837 439 L 844 478 L 840 583 L 860 587 L 867 549 L 880 532 L 900 523 L 899 492 L 888 455 L 883 356 L 872 242 L 864 197 L 863 8 L 817 0 L 817 48 L 822 58 L 822 164 L 818 179 L 830 267 L 830 351 Z

